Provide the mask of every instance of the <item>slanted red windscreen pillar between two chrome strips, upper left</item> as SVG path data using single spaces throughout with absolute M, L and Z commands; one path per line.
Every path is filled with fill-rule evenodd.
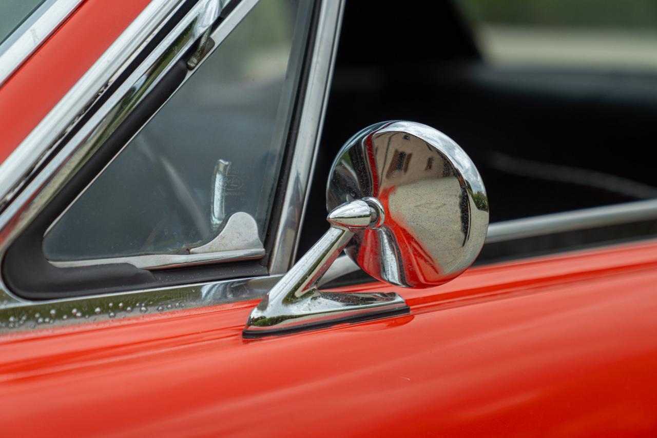
M 0 162 L 150 3 L 86 0 L 0 88 Z

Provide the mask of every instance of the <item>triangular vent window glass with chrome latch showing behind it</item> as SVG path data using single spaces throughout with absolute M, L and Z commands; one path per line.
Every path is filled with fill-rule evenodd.
M 265 234 L 309 2 L 261 1 L 47 232 L 48 259 L 183 254 L 234 213 Z

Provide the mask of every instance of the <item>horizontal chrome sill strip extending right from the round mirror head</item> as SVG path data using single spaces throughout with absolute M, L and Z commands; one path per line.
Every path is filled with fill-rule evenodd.
M 657 200 L 627 202 L 613 206 L 564 211 L 523 219 L 491 223 L 486 243 L 505 242 L 526 237 L 605 227 L 628 222 L 657 219 Z

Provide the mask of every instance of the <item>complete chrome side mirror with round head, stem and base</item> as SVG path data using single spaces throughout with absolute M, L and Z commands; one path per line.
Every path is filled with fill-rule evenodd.
M 338 152 L 327 186 L 330 228 L 269 291 L 246 322 L 254 338 L 409 311 L 402 297 L 321 292 L 342 250 L 384 282 L 429 288 L 480 252 L 488 227 L 484 183 L 470 158 L 432 127 L 385 121 Z

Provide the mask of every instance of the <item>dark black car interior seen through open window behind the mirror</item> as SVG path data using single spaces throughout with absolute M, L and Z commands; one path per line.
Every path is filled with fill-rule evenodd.
M 298 254 L 327 229 L 336 152 L 372 123 L 419 121 L 459 143 L 484 179 L 495 223 L 656 198 L 655 116 L 652 74 L 495 67 L 452 1 L 348 1 Z M 654 232 L 650 222 L 543 236 L 487 245 L 480 259 Z

